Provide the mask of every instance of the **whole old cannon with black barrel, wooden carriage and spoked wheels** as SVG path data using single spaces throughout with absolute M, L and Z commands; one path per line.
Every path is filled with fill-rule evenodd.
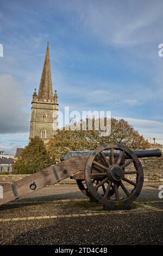
M 91 201 L 105 210 L 130 209 L 143 186 L 141 157 L 160 157 L 161 150 L 130 150 L 124 145 L 105 143 L 93 151 L 69 151 L 53 164 L 21 180 L 3 186 L 0 205 L 52 185 L 66 178 Z

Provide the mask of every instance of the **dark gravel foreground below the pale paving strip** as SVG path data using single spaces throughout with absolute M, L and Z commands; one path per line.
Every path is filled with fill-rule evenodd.
M 162 220 L 150 212 L 1 223 L 0 244 L 161 245 Z

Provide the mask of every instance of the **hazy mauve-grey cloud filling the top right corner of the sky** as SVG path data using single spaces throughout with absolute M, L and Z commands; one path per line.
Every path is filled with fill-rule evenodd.
M 54 1 L 50 1 L 49 4 L 56 8 Z M 72 0 L 65 1 L 60 8 L 76 17 L 72 19 L 74 26 L 84 26 L 85 31 L 95 35 L 99 41 L 118 47 L 128 47 L 151 42 L 154 37 L 160 37 L 162 7 L 161 1 L 150 0 L 126 1 L 125 4 L 120 0 Z M 152 26 L 155 26 L 154 36 L 150 31 Z

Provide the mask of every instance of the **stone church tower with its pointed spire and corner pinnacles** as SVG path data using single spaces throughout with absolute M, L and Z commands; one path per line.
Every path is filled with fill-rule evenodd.
M 35 89 L 32 99 L 29 142 L 31 138 L 38 136 L 44 143 L 47 143 L 57 129 L 57 114 L 58 96 L 56 90 L 53 96 L 49 45 L 47 44 L 39 93 L 37 95 Z

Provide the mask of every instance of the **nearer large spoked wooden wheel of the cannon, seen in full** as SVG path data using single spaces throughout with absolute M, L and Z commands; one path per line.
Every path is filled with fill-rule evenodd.
M 109 150 L 107 151 L 109 157 L 105 156 L 104 150 Z M 119 150 L 118 158 L 115 158 L 115 150 Z M 103 164 L 98 162 L 99 157 Z M 127 160 L 124 160 L 125 158 Z M 124 160 L 123 164 L 122 159 Z M 99 177 L 100 181 L 97 185 L 92 182 L 92 179 Z M 87 159 L 85 181 L 91 195 L 103 205 L 107 205 L 108 209 L 127 208 L 139 196 L 142 189 L 141 162 L 130 149 L 123 145 L 103 144 L 96 148 Z M 105 192 L 102 195 L 97 189 L 103 186 Z M 110 196 L 111 186 L 114 186 L 115 194 L 113 196 Z

